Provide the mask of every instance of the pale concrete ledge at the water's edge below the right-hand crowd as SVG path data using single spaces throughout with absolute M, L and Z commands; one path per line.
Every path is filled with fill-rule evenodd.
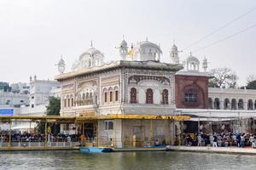
M 244 154 L 256 155 L 256 149 L 253 148 L 237 148 L 237 147 L 211 147 L 211 146 L 167 146 L 166 150 L 190 151 L 190 152 L 207 152 L 222 154 Z

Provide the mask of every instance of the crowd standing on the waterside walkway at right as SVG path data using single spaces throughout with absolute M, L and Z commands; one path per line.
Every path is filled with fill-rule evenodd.
M 246 147 L 256 148 L 256 135 L 253 133 L 187 133 L 184 134 L 184 145 L 212 147 Z

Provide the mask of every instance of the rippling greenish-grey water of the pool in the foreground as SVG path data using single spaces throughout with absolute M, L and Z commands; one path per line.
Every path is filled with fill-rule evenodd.
M 0 152 L 0 169 L 256 169 L 256 156 L 192 152 L 115 152 L 82 154 L 79 151 Z

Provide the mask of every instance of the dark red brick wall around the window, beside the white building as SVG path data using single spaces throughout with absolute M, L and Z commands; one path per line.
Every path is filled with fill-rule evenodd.
M 185 102 L 185 89 L 197 89 L 197 101 Z M 175 76 L 175 102 L 177 108 L 207 109 L 208 108 L 208 77 Z

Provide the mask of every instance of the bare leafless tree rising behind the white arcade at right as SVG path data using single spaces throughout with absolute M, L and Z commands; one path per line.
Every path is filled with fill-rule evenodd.
M 210 71 L 212 79 L 209 81 L 210 88 L 236 88 L 238 77 L 230 68 L 217 68 Z

